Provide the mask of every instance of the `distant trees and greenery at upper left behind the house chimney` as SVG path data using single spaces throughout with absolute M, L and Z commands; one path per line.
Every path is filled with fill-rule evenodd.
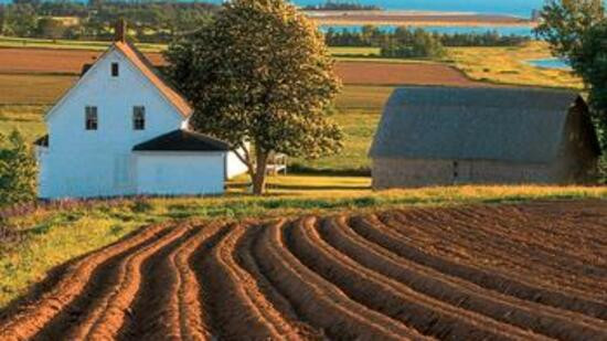
M 0 35 L 108 40 L 114 22 L 124 18 L 137 41 L 167 42 L 174 34 L 196 30 L 212 20 L 217 7 L 177 1 L 14 0 L 0 4 Z

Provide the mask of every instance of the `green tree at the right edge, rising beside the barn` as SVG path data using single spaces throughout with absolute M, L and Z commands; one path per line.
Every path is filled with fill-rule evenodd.
M 549 0 L 541 18 L 536 34 L 584 81 L 601 145 L 607 148 L 607 20 L 603 0 Z

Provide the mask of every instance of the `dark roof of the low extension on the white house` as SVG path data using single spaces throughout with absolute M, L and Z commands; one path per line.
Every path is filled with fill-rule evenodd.
M 173 130 L 132 148 L 135 151 L 228 151 L 230 146 L 210 136 Z

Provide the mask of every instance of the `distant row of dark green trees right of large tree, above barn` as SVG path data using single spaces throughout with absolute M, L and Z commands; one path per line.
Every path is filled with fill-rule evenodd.
M 396 28 L 393 32 L 381 30 L 377 26 L 364 25 L 361 31 L 353 32 L 348 29 L 329 29 L 324 34 L 329 46 L 365 46 L 382 47 L 394 44 L 411 44 L 415 39 L 415 32 L 422 29 L 406 26 Z M 419 33 L 417 33 L 419 35 Z M 443 46 L 515 46 L 531 40 L 522 35 L 501 35 L 497 31 L 486 33 L 430 33 Z

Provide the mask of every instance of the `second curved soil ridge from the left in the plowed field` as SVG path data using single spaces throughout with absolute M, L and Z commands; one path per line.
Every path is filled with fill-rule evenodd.
M 84 318 L 64 338 L 68 340 L 115 339 L 125 322 L 142 280 L 141 267 L 146 259 L 180 239 L 191 228 L 179 225 L 156 243 L 140 247 L 125 257 L 113 276 L 116 284 L 97 297 L 84 311 Z

